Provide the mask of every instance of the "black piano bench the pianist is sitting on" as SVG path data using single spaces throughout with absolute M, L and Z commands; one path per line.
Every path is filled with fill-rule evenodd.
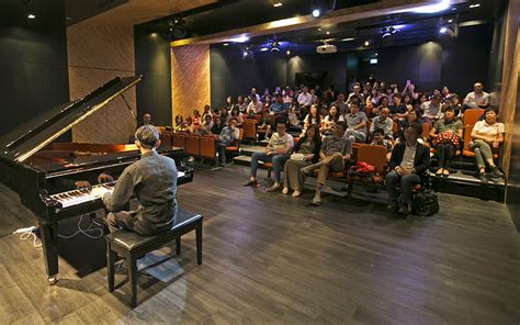
M 132 285 L 131 305 L 137 305 L 137 259 L 149 251 L 159 249 L 176 239 L 176 254 L 181 254 L 181 236 L 195 231 L 196 262 L 202 264 L 202 215 L 179 210 L 173 227 L 159 235 L 143 236 L 134 232 L 117 231 L 105 236 L 106 269 L 109 291 L 114 291 L 115 255 L 123 257 L 128 269 L 128 281 Z

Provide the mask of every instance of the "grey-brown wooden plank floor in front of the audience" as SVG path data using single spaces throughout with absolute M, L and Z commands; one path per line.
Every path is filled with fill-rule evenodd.
M 83 274 L 60 258 L 48 287 L 42 250 L 0 238 L 0 323 L 519 324 L 520 236 L 502 204 L 441 194 L 436 216 L 396 220 L 384 193 L 354 188 L 310 208 L 310 192 L 242 188 L 247 175 L 199 168 L 180 187 L 181 208 L 205 216 L 203 264 L 188 235 L 180 257 L 148 272 L 159 279 L 139 278 L 135 310 L 127 285 L 106 291 L 105 268 Z M 0 193 L 0 234 L 35 224 Z

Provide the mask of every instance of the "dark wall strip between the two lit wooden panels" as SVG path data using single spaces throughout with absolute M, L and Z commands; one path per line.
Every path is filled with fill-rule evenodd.
M 143 75 L 137 83 L 137 117 L 151 114 L 156 125 L 171 125 L 170 45 L 144 27 L 134 27 L 135 69 Z

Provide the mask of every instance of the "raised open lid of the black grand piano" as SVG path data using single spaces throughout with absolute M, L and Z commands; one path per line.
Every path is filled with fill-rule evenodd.
M 140 80 L 142 76 L 116 77 L 81 99 L 53 108 L 20 124 L 0 139 L 0 156 L 15 162 L 25 161 Z

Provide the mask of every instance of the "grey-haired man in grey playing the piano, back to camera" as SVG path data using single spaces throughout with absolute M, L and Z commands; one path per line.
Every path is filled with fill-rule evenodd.
M 170 229 L 177 217 L 177 166 L 169 157 L 157 153 L 159 132 L 144 125 L 135 132 L 140 159 L 123 170 L 113 191 L 94 187 L 109 211 L 105 222 L 111 232 L 124 228 L 140 235 L 155 235 Z M 129 210 L 131 199 L 137 199 L 136 210 Z

